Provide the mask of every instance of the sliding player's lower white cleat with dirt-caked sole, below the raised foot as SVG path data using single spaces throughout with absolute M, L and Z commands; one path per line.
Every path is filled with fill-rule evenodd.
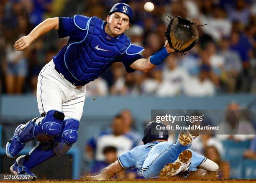
M 182 171 L 186 171 L 191 163 L 192 152 L 189 150 L 184 150 L 179 154 L 178 159 L 174 163 L 169 163 L 164 166 L 160 172 L 160 178 L 168 178 Z

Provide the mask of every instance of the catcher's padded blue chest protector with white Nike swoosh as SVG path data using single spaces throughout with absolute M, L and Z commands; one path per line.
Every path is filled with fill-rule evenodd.
M 92 17 L 88 21 L 84 39 L 69 44 L 64 54 L 70 74 L 85 84 L 97 79 L 131 44 L 124 34 L 113 38 L 105 33 L 102 19 Z

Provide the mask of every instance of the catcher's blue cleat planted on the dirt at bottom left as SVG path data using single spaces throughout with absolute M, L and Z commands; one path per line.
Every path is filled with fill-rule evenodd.
M 36 175 L 33 174 L 28 168 L 25 166 L 22 166 L 22 161 L 24 156 L 20 156 L 15 163 L 10 167 L 11 173 L 14 175 L 26 175 L 26 176 L 21 176 L 19 179 L 20 181 L 33 181 L 36 180 Z M 20 164 L 21 163 L 21 164 Z

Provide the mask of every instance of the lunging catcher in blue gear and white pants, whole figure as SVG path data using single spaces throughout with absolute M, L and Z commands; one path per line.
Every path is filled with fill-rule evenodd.
M 184 44 L 172 48 L 170 45 L 177 46 L 179 39 L 173 39 L 175 35 L 168 37 L 170 33 L 167 33 L 170 41 L 175 43 L 168 44 L 166 41 L 159 51 L 142 58 L 139 53 L 144 48 L 131 44 L 124 34 L 132 16 L 129 5 L 118 3 L 111 8 L 106 21 L 82 15 L 49 18 L 15 42 L 14 48 L 22 51 L 52 29 L 58 30 L 59 38 L 69 36 L 67 45 L 53 56 L 38 76 L 36 97 L 41 117 L 19 125 L 7 142 L 6 154 L 10 158 L 15 158 L 26 142 L 34 139 L 39 142 L 27 155 L 17 158 L 10 167 L 13 174 L 31 175 L 32 180 L 35 180 L 36 175 L 31 172 L 31 168 L 56 155 L 64 155 L 72 147 L 78 138 L 86 84 L 97 79 L 114 62 L 122 62 L 127 72 L 147 72 L 170 53 L 181 51 L 180 45 Z M 175 23 L 177 26 L 178 21 Z

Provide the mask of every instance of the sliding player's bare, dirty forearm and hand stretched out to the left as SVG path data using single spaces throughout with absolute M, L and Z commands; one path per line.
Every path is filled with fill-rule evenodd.
M 113 175 L 123 170 L 124 168 L 120 165 L 118 160 L 116 160 L 115 163 L 112 163 L 111 165 L 108 165 L 108 167 L 104 168 L 100 175 L 90 176 L 87 178 L 89 180 L 110 180 Z

